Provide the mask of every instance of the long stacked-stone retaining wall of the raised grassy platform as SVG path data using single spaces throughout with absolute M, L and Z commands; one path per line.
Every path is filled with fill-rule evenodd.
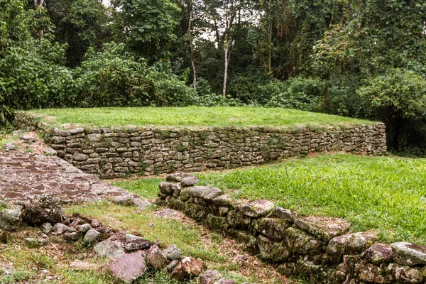
M 21 129 L 40 129 L 60 158 L 102 178 L 222 170 L 312 152 L 383 155 L 387 151 L 386 126 L 382 123 L 315 131 L 303 127 L 60 130 L 48 129 L 33 114 L 20 111 L 16 113 L 15 125 Z

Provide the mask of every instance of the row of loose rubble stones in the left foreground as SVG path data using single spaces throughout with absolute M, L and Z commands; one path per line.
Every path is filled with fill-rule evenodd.
M 93 246 L 99 256 L 110 259 L 107 270 L 125 283 L 141 278 L 150 269 L 165 271 L 170 278 L 179 281 L 198 278 L 200 284 L 234 284 L 233 280 L 222 278 L 218 271 L 208 271 L 199 258 L 185 257 L 173 244 L 160 249 L 153 241 L 102 226 L 97 219 L 80 214 L 66 216 L 57 197 L 43 195 L 26 202 L 21 210 L 1 210 L 0 242 L 6 242 L 9 232 L 16 231 L 21 223 L 38 226 L 43 232 L 38 239 L 26 238 L 28 246 L 45 246 L 50 235 L 62 236 L 70 242 L 81 240 L 85 245 Z M 72 266 L 87 264 L 75 262 Z

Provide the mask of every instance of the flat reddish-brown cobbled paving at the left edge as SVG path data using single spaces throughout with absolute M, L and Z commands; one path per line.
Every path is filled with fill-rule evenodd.
M 129 195 L 121 187 L 83 173 L 58 157 L 22 151 L 0 152 L 0 200 L 25 204 L 34 197 L 51 195 L 60 202 L 81 203 Z M 29 203 L 31 206 L 31 203 Z M 42 216 L 35 214 L 35 216 Z M 40 223 L 41 222 L 41 223 Z M 46 220 L 55 224 L 62 220 Z

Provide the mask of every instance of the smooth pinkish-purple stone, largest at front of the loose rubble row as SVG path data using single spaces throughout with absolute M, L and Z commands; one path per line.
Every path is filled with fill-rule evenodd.
M 124 254 L 109 266 L 109 270 L 114 278 L 131 283 L 145 274 L 145 258 L 141 253 Z

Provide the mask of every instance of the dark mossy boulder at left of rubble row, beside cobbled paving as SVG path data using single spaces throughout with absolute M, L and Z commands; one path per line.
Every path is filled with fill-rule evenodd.
M 56 224 L 62 222 L 60 199 L 49 195 L 33 198 L 22 209 L 22 220 L 31 226 L 43 223 Z

